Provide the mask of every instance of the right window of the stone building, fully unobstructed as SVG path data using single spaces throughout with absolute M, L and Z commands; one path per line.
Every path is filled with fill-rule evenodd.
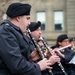
M 64 13 L 63 11 L 54 11 L 55 30 L 64 30 Z

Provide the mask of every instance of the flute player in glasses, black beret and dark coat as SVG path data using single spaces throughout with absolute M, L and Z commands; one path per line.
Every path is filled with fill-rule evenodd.
M 69 39 L 67 34 L 61 34 L 57 37 L 56 45 L 52 46 L 52 49 L 58 48 L 55 50 L 56 54 L 60 57 L 60 61 L 68 75 L 75 75 L 74 70 L 72 69 L 72 64 L 69 64 L 70 60 L 73 58 L 75 53 L 67 48 L 63 48 L 69 45 Z M 60 48 L 63 48 L 59 51 Z M 54 75 L 64 75 L 61 71 L 58 64 L 53 65 L 53 73 Z

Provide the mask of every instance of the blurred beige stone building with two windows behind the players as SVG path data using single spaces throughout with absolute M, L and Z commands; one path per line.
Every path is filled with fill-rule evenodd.
M 60 34 L 75 38 L 75 0 L 0 0 L 0 23 L 6 19 L 6 9 L 14 2 L 32 5 L 31 21 L 41 21 L 42 36 L 54 45 Z

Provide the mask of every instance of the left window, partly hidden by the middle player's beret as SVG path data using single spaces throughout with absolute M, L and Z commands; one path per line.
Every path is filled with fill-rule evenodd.
M 41 22 L 41 30 L 45 30 L 46 14 L 45 12 L 37 12 L 36 20 Z

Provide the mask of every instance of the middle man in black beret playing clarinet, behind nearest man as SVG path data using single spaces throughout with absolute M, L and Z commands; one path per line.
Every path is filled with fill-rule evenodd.
M 40 26 L 41 26 L 41 22 L 40 21 L 38 21 L 38 22 L 31 22 L 30 25 L 29 25 L 29 29 L 30 29 L 31 34 L 34 37 L 34 39 L 37 42 L 40 43 L 39 45 L 40 46 L 44 46 L 44 44 L 40 40 L 40 37 L 42 35 L 42 31 L 41 31 L 41 27 Z M 54 63 L 59 62 L 60 61 L 60 58 L 58 56 L 56 56 L 56 55 L 53 55 L 53 56 L 49 57 L 49 60 L 50 60 L 51 64 L 53 65 Z M 42 75 L 48 75 L 47 70 L 42 71 Z

